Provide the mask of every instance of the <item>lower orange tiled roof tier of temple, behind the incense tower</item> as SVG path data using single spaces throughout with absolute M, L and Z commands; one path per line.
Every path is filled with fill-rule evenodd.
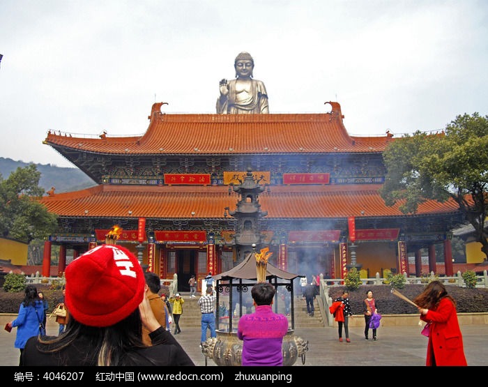
M 346 218 L 348 216 L 405 216 L 399 204 L 388 207 L 381 185 L 284 185 L 259 196 L 270 218 Z M 237 196 L 227 186 L 98 185 L 86 190 L 43 197 L 41 202 L 64 217 L 224 218 L 224 208 L 235 208 Z M 88 213 L 85 213 L 88 211 Z M 129 215 L 128 211 L 132 211 Z M 457 212 L 454 202 L 421 204 L 418 215 Z

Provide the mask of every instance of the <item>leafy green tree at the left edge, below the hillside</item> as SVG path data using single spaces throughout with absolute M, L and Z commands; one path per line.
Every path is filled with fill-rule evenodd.
M 58 228 L 57 215 L 38 202 L 44 194 L 39 179 L 34 164 L 17 168 L 8 179 L 0 174 L 0 233 L 4 238 L 29 243 Z

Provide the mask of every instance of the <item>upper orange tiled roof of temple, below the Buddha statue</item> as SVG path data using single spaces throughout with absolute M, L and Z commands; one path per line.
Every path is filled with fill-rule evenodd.
M 45 144 L 93 153 L 239 154 L 382 152 L 384 137 L 349 136 L 340 106 L 324 114 L 162 114 L 142 136 L 85 138 L 49 132 Z M 158 104 L 155 104 L 158 105 Z

